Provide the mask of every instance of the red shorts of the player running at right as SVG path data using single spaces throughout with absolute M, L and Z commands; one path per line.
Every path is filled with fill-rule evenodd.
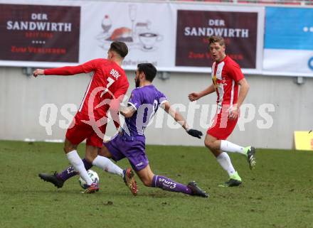
M 225 114 L 223 116 L 221 113 L 214 116 L 213 122 L 208 128 L 208 131 L 206 131 L 206 134 L 216 137 L 218 140 L 225 140 L 233 132 L 233 129 L 235 129 L 238 118 L 228 119 L 228 113 L 224 112 Z

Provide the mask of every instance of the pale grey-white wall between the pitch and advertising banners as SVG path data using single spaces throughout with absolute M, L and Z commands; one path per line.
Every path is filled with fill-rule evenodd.
M 127 75 L 131 85 L 130 92 L 134 88 L 134 75 L 133 72 L 127 72 Z M 1 67 L 0 139 L 64 139 L 66 130 L 60 128 L 59 121 L 66 119 L 60 114 L 60 109 L 64 104 L 71 103 L 79 107 L 89 80 L 89 75 L 27 77 L 22 75 L 21 68 Z M 250 83 L 250 92 L 245 103 L 255 105 L 255 119 L 244 125 L 245 131 L 240 131 L 236 126 L 230 141 L 241 145 L 252 144 L 259 148 L 292 148 L 293 131 L 313 128 L 312 78 L 306 78 L 303 85 L 295 84 L 294 77 L 248 75 L 247 80 Z M 211 79 L 206 74 L 171 73 L 169 80 L 154 80 L 154 85 L 166 94 L 172 104 L 182 104 L 186 109 L 189 107 L 189 92 L 200 91 L 209 83 Z M 211 94 L 198 104 L 211 105 L 215 101 L 216 94 Z M 55 104 L 58 108 L 51 136 L 47 135 L 46 129 L 38 121 L 41 107 L 48 103 Z M 273 119 L 270 129 L 258 128 L 258 121 L 264 120 L 258 114 L 262 104 L 272 104 L 275 107 L 275 112 L 268 112 Z M 211 106 L 209 111 L 211 114 Z M 181 113 L 187 117 L 186 112 Z M 201 113 L 198 109 L 195 113 L 193 127 L 205 133 L 206 129 L 200 124 Z M 156 128 L 155 121 L 147 128 L 147 143 L 203 146 L 203 139 L 192 138 L 180 128 L 170 129 L 167 121 L 168 117 L 164 115 L 161 128 Z M 107 129 L 109 135 L 113 129 L 110 123 Z

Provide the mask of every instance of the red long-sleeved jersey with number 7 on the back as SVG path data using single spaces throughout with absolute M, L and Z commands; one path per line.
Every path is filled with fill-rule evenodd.
M 78 112 L 85 116 L 90 116 L 90 112 L 93 112 L 97 121 L 103 116 L 106 116 L 109 109 L 108 102 L 105 99 L 117 99 L 120 96 L 124 96 L 129 87 L 126 74 L 117 63 L 99 58 L 74 67 L 47 69 L 44 71 L 44 74 L 76 75 L 87 72 L 93 72 L 93 75 Z M 100 104 L 101 102 L 105 102 L 106 104 L 102 105 Z M 92 107 L 90 107 L 90 104 Z M 98 104 L 100 104 L 100 107 L 97 107 Z

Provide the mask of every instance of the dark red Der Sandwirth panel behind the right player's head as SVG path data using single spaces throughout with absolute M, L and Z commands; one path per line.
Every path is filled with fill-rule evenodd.
M 257 69 L 258 12 L 238 11 L 179 10 L 175 65 L 211 66 L 208 37 L 213 35 L 225 39 L 226 54 L 240 67 Z

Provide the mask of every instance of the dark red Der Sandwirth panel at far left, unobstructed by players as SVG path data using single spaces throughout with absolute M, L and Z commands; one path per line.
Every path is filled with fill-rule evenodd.
M 78 63 L 80 6 L 0 4 L 0 11 L 0 65 Z

